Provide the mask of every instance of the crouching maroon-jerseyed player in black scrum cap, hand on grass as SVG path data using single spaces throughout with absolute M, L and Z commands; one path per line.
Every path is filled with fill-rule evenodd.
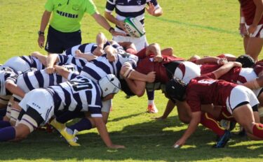
M 201 121 L 201 104 L 212 103 L 224 106 L 223 108 L 227 109 L 234 119 L 245 128 L 250 138 L 263 139 L 263 125 L 259 124 L 257 112 L 259 102 L 255 94 L 247 87 L 224 80 L 215 80 L 216 78 L 217 76 L 214 73 L 208 73 L 192 79 L 189 84 L 185 84 L 179 79 L 168 82 L 166 86 L 168 96 L 179 101 L 187 101 L 192 112 L 187 131 L 184 132 L 180 140 L 175 142 L 174 147 L 184 145 L 196 130 Z M 229 135 L 222 138 L 221 142 L 226 143 Z

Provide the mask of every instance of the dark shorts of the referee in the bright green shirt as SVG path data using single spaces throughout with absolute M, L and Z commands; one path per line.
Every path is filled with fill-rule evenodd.
M 49 26 L 45 50 L 50 53 L 61 54 L 63 51 L 81 44 L 81 30 L 63 33 Z

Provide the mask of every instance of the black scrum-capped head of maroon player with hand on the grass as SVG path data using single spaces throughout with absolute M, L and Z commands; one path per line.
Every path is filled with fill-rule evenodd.
M 172 79 L 166 84 L 166 96 L 172 100 L 184 101 L 187 84 L 180 79 Z

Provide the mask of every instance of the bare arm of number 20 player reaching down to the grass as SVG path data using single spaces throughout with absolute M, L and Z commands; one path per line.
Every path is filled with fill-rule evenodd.
M 100 133 L 100 137 L 104 141 L 107 147 L 112 149 L 123 149 L 125 148 L 123 145 L 114 145 L 112 140 L 109 138 L 109 133 L 107 131 L 107 127 L 104 124 L 102 117 L 93 117 L 95 121 L 95 126 L 97 127 L 97 131 Z

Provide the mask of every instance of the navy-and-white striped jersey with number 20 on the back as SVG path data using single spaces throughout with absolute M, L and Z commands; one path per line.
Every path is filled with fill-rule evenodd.
M 56 110 L 89 111 L 91 117 L 102 117 L 102 91 L 99 85 L 81 75 L 70 75 L 70 81 L 48 87 Z

